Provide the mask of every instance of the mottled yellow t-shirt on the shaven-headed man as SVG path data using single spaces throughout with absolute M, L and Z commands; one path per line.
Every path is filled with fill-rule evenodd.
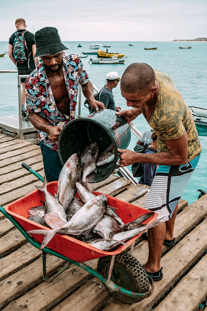
M 202 149 L 193 116 L 171 77 L 157 70 L 154 72 L 156 80 L 160 83 L 160 91 L 149 125 L 157 133 L 158 152 L 167 151 L 165 139 L 177 139 L 186 130 L 188 136 L 187 162 L 189 162 L 198 156 Z

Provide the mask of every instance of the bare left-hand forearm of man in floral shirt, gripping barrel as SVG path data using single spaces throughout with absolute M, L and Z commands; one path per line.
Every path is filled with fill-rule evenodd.
M 59 131 L 63 128 L 59 125 L 51 126 L 46 123 L 44 118 L 41 118 L 39 114 L 28 111 L 28 116 L 32 125 L 39 131 L 46 132 L 50 135 L 53 142 L 58 142 Z

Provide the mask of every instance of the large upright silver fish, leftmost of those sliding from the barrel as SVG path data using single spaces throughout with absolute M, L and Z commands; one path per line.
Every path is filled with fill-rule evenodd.
M 75 183 L 79 181 L 81 174 L 80 160 L 74 153 L 64 164 L 58 179 L 57 199 L 66 210 L 76 194 Z

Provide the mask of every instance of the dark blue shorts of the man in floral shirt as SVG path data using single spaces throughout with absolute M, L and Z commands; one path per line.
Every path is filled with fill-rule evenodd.
M 63 168 L 63 165 L 58 155 L 58 151 L 50 149 L 41 142 L 40 148 L 42 152 L 45 176 L 47 181 L 50 182 L 58 180 L 61 169 Z

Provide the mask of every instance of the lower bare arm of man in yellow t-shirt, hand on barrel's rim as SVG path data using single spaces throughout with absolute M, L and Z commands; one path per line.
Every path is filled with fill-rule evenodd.
M 186 131 L 180 138 L 165 140 L 167 151 L 143 154 L 129 149 L 118 149 L 123 152 L 120 156 L 120 166 L 124 167 L 133 163 L 150 163 L 158 165 L 182 165 L 188 157 L 188 137 Z

